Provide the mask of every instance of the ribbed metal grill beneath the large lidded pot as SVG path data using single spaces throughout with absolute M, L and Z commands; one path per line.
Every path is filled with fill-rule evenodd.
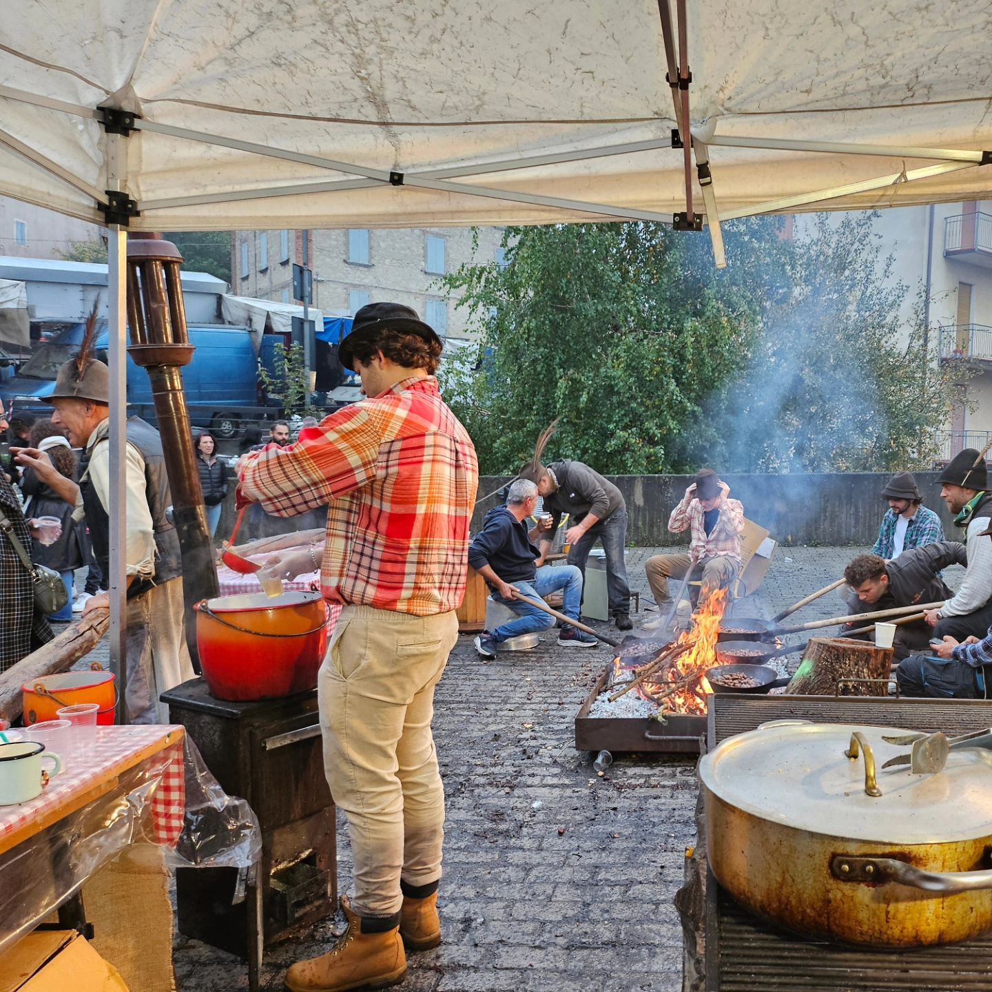
M 992 726 L 984 699 L 722 695 L 710 699 L 708 747 L 767 720 L 801 717 L 947 734 Z M 738 906 L 707 871 L 705 992 L 955 992 L 992 987 L 992 933 L 958 944 L 871 950 L 806 940 Z M 685 988 L 699 988 L 686 981 Z

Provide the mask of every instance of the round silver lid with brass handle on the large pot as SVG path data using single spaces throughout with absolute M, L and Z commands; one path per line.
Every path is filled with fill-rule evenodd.
M 859 732 L 874 752 L 880 796 L 865 792 Z M 810 833 L 889 844 L 972 840 L 992 834 L 992 764 L 984 751 L 952 751 L 943 771 L 913 775 L 883 762 L 909 751 L 860 724 L 770 726 L 727 738 L 699 762 L 699 778 L 730 806 Z M 859 750 L 861 750 L 859 748 Z

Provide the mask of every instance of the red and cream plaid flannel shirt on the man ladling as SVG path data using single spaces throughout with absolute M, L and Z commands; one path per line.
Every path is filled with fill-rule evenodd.
M 320 585 L 331 602 L 417 616 L 461 605 L 479 469 L 433 376 L 250 454 L 240 475 L 240 495 L 269 513 L 328 508 Z

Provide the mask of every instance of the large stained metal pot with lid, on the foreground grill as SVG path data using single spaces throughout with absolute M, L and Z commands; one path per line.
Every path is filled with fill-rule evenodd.
M 992 929 L 992 768 L 952 753 L 934 775 L 879 773 L 891 728 L 771 726 L 699 763 L 717 881 L 807 939 L 951 943 Z M 907 732 L 908 733 L 908 732 Z

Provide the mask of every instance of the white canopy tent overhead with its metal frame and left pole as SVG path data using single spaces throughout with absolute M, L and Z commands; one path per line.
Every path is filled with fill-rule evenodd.
M 720 218 L 990 195 L 987 0 L 677 7 L 8 4 L 0 194 L 112 233 L 117 505 L 121 225 L 672 222 L 687 212 L 683 222 L 697 226 L 705 213 L 719 264 Z M 673 148 L 684 118 L 694 147 Z M 115 528 L 120 548 L 119 519 Z M 119 602 L 113 617 L 119 651 Z

